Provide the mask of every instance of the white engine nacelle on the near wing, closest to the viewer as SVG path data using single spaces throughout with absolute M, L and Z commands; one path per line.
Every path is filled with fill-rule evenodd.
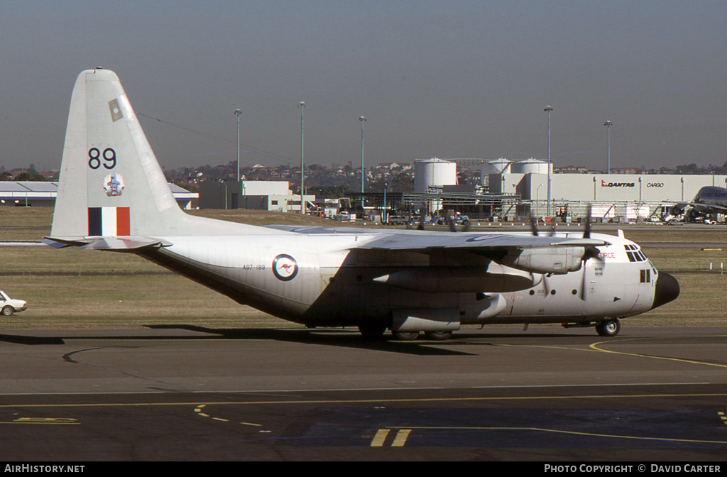
M 531 273 L 568 273 L 580 270 L 584 246 L 558 246 L 507 252 L 502 265 Z

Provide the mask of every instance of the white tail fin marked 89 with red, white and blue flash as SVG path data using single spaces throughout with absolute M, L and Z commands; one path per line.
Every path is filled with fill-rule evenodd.
M 73 87 L 53 237 L 269 233 L 193 217 L 177 205 L 116 73 L 82 71 Z

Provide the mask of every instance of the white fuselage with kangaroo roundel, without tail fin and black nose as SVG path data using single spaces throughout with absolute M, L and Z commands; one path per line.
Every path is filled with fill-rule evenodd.
M 372 321 L 390 326 L 396 310 L 423 309 L 449 313 L 461 324 L 578 323 L 635 315 L 654 305 L 658 272 L 638 252 L 638 245 L 625 238 L 598 236 L 609 245 L 599 247 L 598 259 L 587 260 L 574 272 L 538 274 L 509 269 L 516 276 L 530 277 L 530 286 L 522 289 L 493 292 L 492 288 L 475 291 L 470 287 L 466 292 L 422 292 L 417 291 L 419 282 L 422 276 L 434 273 L 438 260 L 457 261 L 447 268 L 449 278 L 466 277 L 490 260 L 469 253 L 438 257 L 353 248 L 371 236 L 165 237 L 172 246 L 142 256 L 237 302 L 309 326 Z M 402 270 L 418 281 L 393 286 L 375 280 Z

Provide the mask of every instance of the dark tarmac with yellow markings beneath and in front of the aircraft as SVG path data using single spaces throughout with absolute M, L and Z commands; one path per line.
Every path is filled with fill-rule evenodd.
M 636 318 L 638 319 L 638 318 Z M 723 460 L 727 328 L 0 334 L 0 458 Z

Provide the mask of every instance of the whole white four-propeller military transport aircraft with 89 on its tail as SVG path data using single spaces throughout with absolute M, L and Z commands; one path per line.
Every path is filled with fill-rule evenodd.
M 308 326 L 444 340 L 462 324 L 562 323 L 619 332 L 679 284 L 640 247 L 585 233 L 478 233 L 274 225 L 185 214 L 119 78 L 73 89 L 51 236 L 56 247 L 137 254 L 236 302 Z M 204 313 L 204 311 L 201 311 Z

